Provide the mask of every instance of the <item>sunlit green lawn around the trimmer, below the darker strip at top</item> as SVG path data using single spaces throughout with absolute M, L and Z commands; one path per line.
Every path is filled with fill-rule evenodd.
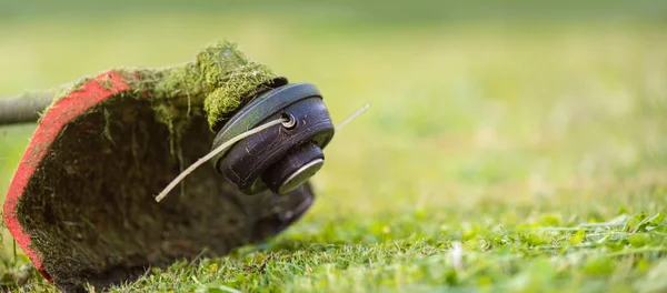
M 664 26 L 212 13 L 2 26 L 2 94 L 229 39 L 317 84 L 335 121 L 371 104 L 326 149 L 317 202 L 286 233 L 117 292 L 667 290 Z M 0 199 L 32 130 L 0 128 Z M 3 235 L 1 289 L 54 291 Z

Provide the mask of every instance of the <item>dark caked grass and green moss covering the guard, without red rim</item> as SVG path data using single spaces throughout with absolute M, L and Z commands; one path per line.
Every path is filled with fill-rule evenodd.
M 208 47 L 179 67 L 113 71 L 130 90 L 69 121 L 17 203 L 30 245 L 59 289 L 107 287 L 202 252 L 223 255 L 276 235 L 310 205 L 308 184 L 287 196 L 248 196 L 213 168 L 153 200 L 210 150 L 213 130 L 258 89 L 287 82 L 235 44 Z M 60 99 L 87 82 L 112 87 L 83 79 Z

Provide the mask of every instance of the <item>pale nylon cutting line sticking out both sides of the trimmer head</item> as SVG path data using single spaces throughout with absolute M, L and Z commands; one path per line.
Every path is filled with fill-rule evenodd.
M 342 122 L 340 122 L 338 125 L 336 125 L 336 131 L 340 130 L 342 127 L 345 127 L 346 124 L 350 123 L 350 121 L 355 120 L 357 117 L 359 117 L 360 114 L 362 114 L 364 112 L 366 112 L 366 110 L 368 110 L 368 108 L 370 107 L 370 104 L 365 104 L 361 109 L 357 110 L 355 113 L 352 113 L 350 117 L 348 117 L 346 120 L 344 120 Z M 227 150 L 229 146 L 233 145 L 235 143 L 241 141 L 245 138 L 248 138 L 255 133 L 258 133 L 265 129 L 268 129 L 270 127 L 273 125 L 278 125 L 278 124 L 282 124 L 282 123 L 289 123 L 290 120 L 287 118 L 280 118 L 280 119 L 276 119 L 272 121 L 269 121 L 267 123 L 263 123 L 259 127 L 256 127 L 253 129 L 250 129 L 239 135 L 233 137 L 232 139 L 226 141 L 225 143 L 220 144 L 220 146 L 216 148 L 215 150 L 212 150 L 211 152 L 209 152 L 207 155 L 202 156 L 201 159 L 197 160 L 197 162 L 195 162 L 193 164 L 191 164 L 190 166 L 188 166 L 188 169 L 183 170 L 183 172 L 181 172 L 180 174 L 178 174 L 178 176 L 176 176 L 170 183 L 169 185 L 167 185 L 162 192 L 160 192 L 160 194 L 158 194 L 158 196 L 156 196 L 156 201 L 160 202 L 161 200 L 165 199 L 165 196 L 167 196 L 167 194 L 169 194 L 169 192 L 171 192 L 177 185 L 178 183 L 180 183 L 181 181 L 183 181 L 183 179 L 186 176 L 188 176 L 190 173 L 192 173 L 195 171 L 195 169 L 199 168 L 200 165 L 202 165 L 203 163 L 208 162 L 209 160 L 211 160 L 213 156 L 216 156 L 218 153 Z

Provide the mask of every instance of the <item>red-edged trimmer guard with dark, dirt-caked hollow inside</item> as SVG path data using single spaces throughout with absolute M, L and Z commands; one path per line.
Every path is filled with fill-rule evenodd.
M 143 91 L 152 81 L 137 77 L 104 72 L 54 102 L 9 188 L 9 231 L 60 290 L 107 287 L 150 266 L 225 255 L 276 235 L 313 200 L 308 184 L 245 195 L 205 165 L 156 202 L 210 150 L 215 132 L 201 104 L 171 109 L 183 119 L 166 123 Z

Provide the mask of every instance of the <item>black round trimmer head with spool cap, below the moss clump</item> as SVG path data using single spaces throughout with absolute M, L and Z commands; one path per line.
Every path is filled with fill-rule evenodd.
M 309 83 L 287 84 L 257 97 L 226 123 L 213 148 L 281 117 L 293 119 L 295 124 L 250 135 L 215 160 L 217 170 L 246 194 L 266 189 L 289 192 L 323 163 L 322 149 L 334 138 L 335 128 L 321 94 Z

